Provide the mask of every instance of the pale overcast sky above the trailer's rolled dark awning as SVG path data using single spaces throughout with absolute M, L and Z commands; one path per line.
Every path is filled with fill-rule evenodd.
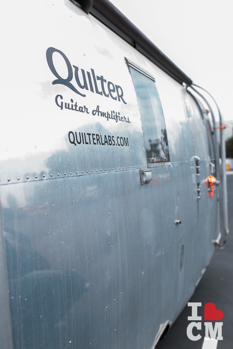
M 233 119 L 233 2 L 111 0 Z

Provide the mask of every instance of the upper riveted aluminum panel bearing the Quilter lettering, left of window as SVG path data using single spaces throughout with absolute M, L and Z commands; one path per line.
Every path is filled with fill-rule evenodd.
M 22 21 L 18 14 L 30 6 L 30 1 L 15 3 L 11 11 L 9 4 L 20 31 L 3 39 L 4 81 L 16 52 L 21 54 L 13 84 L 1 91 L 7 116 L 0 130 L 1 183 L 145 167 L 131 77 L 122 50 L 116 50 L 121 40 L 117 37 L 116 44 L 110 30 L 109 35 L 69 1 L 43 2 L 36 16 Z M 74 47 L 77 26 L 85 28 L 88 39 L 79 30 Z M 22 37 L 32 35 L 28 28 L 33 28 L 32 46 L 22 44 Z

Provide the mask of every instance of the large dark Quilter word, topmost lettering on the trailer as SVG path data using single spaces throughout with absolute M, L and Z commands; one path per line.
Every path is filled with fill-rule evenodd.
M 61 77 L 54 64 L 53 64 L 53 53 L 57 52 L 61 55 L 61 57 L 63 57 L 65 63 L 66 63 L 66 67 L 67 67 L 67 73 L 68 76 L 67 77 Z M 51 72 L 53 73 L 54 76 L 56 76 L 56 80 L 53 80 L 52 84 L 61 84 L 64 85 L 68 88 L 70 88 L 72 91 L 74 91 L 75 93 L 77 93 L 78 95 L 82 96 L 82 97 L 86 97 L 86 95 L 84 93 L 80 92 L 81 90 L 89 90 L 91 92 L 95 92 L 96 94 L 99 94 L 101 96 L 105 96 L 107 98 L 111 97 L 112 99 L 115 99 L 116 101 L 119 102 L 123 102 L 124 104 L 127 104 L 123 98 L 123 90 L 121 88 L 121 86 L 114 84 L 111 81 L 108 81 L 106 79 L 104 79 L 103 75 L 96 75 L 94 72 L 93 68 L 90 68 L 90 72 L 86 71 L 84 69 L 81 69 L 81 76 L 82 76 L 82 81 L 80 81 L 80 75 L 79 75 L 79 67 L 73 65 L 74 68 L 74 77 L 77 83 L 77 87 L 75 87 L 71 81 L 73 79 L 73 69 L 71 66 L 70 61 L 68 60 L 68 58 L 66 57 L 66 55 L 58 50 L 58 49 L 54 49 L 54 47 L 49 47 L 46 51 L 46 59 L 49 65 L 49 68 L 51 70 Z M 77 89 L 79 88 L 79 90 Z M 83 91 L 84 92 L 84 91 Z

